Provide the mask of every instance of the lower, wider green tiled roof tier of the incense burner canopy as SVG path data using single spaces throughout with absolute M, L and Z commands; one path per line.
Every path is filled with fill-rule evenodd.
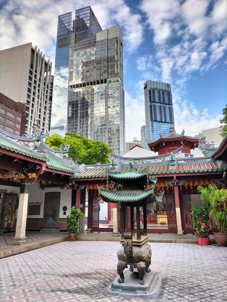
M 100 187 L 98 187 L 98 191 L 100 195 L 102 196 L 104 201 L 109 201 L 109 202 L 118 202 L 118 201 L 124 201 L 124 202 L 134 202 L 134 201 L 139 201 L 150 194 L 153 194 L 154 191 L 140 191 L 140 190 L 120 190 L 120 191 L 104 191 Z

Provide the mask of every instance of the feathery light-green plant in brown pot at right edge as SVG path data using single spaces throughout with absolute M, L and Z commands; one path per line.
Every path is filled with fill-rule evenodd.
M 215 185 L 209 188 L 198 187 L 201 200 L 210 203 L 210 216 L 218 223 L 218 233 L 214 232 L 214 238 L 219 246 L 227 246 L 227 189 L 218 189 Z

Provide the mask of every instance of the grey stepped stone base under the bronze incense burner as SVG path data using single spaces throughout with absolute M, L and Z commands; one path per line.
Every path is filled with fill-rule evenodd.
M 138 273 L 137 269 L 134 269 L 135 273 Z M 123 294 L 148 294 L 156 296 L 157 292 L 162 286 L 162 277 L 156 271 L 146 273 L 143 277 L 145 283 L 140 285 L 138 278 L 132 278 L 132 274 L 129 269 L 124 270 L 124 283 L 118 283 L 117 280 L 120 278 L 119 275 L 114 279 L 113 283 L 110 284 L 108 290 L 112 292 L 118 292 Z M 138 276 L 139 277 L 139 276 Z

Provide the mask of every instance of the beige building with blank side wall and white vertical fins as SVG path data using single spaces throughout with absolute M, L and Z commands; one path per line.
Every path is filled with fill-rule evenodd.
M 31 133 L 37 120 L 46 131 L 51 66 L 31 43 L 0 51 L 0 91 L 26 104 L 26 133 Z

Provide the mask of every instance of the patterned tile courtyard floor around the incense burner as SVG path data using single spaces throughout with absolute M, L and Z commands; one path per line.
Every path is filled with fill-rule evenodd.
M 163 277 L 153 297 L 108 292 L 119 242 L 65 241 L 0 260 L 0 301 L 227 301 L 227 248 L 150 243 L 150 268 Z

